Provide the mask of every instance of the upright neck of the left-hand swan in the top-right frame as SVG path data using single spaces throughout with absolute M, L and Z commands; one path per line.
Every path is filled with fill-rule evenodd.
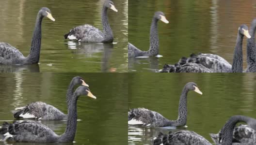
M 150 47 L 147 51 L 150 54 L 158 55 L 159 53 L 159 37 L 158 37 L 158 19 L 153 18 L 150 27 Z

